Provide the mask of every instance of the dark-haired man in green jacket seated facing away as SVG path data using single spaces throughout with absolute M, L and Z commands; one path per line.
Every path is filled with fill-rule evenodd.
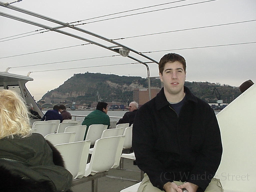
M 89 126 L 92 124 L 103 124 L 110 126 L 110 118 L 108 113 L 108 103 L 98 102 L 96 110 L 92 111 L 88 116 L 84 118 L 82 125 L 86 125 L 86 131 L 84 135 L 84 140 L 88 132 Z

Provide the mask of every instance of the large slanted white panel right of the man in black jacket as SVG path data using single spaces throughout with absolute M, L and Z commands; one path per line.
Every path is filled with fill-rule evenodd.
M 256 84 L 218 113 L 223 154 L 215 177 L 224 191 L 255 191 Z

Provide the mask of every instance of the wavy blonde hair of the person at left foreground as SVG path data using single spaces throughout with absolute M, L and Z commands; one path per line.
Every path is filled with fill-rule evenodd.
M 0 91 L 0 139 L 31 135 L 28 114 L 24 100 L 16 92 Z

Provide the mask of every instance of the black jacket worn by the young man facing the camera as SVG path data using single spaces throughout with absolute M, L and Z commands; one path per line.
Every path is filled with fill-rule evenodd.
M 145 103 L 133 122 L 132 148 L 136 163 L 153 186 L 173 180 L 188 181 L 204 191 L 217 171 L 222 155 L 220 129 L 212 108 L 187 87 L 186 101 L 177 113 L 164 88 Z

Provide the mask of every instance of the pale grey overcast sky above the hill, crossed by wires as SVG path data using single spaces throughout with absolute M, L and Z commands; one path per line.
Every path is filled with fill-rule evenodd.
M 187 61 L 186 80 L 190 82 L 208 81 L 239 86 L 244 81 L 251 79 L 256 83 L 256 22 L 251 21 L 256 20 L 256 1 L 205 1 L 206 0 L 183 0 L 180 2 L 174 0 L 23 0 L 19 3 L 13 3 L 12 5 L 65 23 L 84 20 L 73 24 L 87 23 L 78 25 L 77 27 L 108 39 L 124 38 L 115 41 L 138 52 L 151 52 L 144 54 L 156 61 L 159 61 L 166 53 L 176 52 L 182 55 Z M 3 2 L 6 3 L 6 1 Z M 9 1 L 9 3 L 11 2 L 12 1 Z M 157 4 L 164 5 L 139 9 Z M 124 12 L 133 9 L 139 10 Z M 59 24 L 37 19 L 4 7 L 0 7 L 0 12 L 32 20 L 50 27 L 59 26 Z M 124 13 L 91 19 L 117 12 Z M 148 13 L 136 14 L 142 12 Z M 130 14 L 135 15 L 121 17 Z M 113 17 L 119 18 L 110 19 Z M 42 28 L 0 16 L 0 71 L 5 71 L 6 68 L 10 67 L 9 73 L 27 75 L 29 71 L 32 72 L 30 77 L 32 77 L 34 81 L 28 82 L 26 85 L 30 93 L 35 96 L 36 100 L 41 99 L 47 91 L 59 87 L 76 73 L 85 73 L 88 71 L 91 73 L 99 72 L 120 76 L 147 77 L 146 67 L 142 64 L 129 64 L 135 62 L 130 58 L 122 56 L 106 57 L 118 54 L 97 45 L 81 45 L 87 42 L 54 31 L 36 34 L 46 31 L 41 30 L 28 33 L 36 31 L 37 29 Z M 99 42 L 106 46 L 113 45 L 93 36 L 77 32 L 74 29 L 63 28 L 61 30 Z M 26 37 L 16 38 L 20 36 L 15 35 L 23 33 L 26 34 L 21 36 Z M 154 33 L 161 34 L 141 36 Z M 219 46 L 227 44 L 236 45 Z M 79 46 L 58 49 L 75 45 Z M 57 50 L 46 51 L 51 49 Z M 27 54 L 33 52 L 40 53 Z M 23 55 L 15 56 L 20 54 Z M 132 52 L 130 52 L 130 55 L 136 56 Z M 105 58 L 89 59 L 95 57 Z M 147 59 L 140 56 L 138 58 L 143 62 L 148 62 Z M 109 66 L 114 64 L 125 65 Z M 28 65 L 34 66 L 22 67 Z M 150 76 L 158 76 L 157 64 L 149 63 L 148 66 Z M 67 68 L 78 69 L 56 70 Z

